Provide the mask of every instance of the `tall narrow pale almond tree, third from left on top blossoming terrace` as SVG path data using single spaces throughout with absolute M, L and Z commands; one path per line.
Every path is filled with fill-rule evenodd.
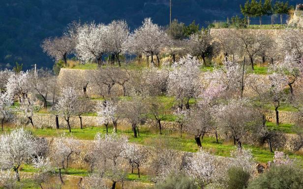
M 107 28 L 107 51 L 112 54 L 112 59 L 116 59 L 119 66 L 121 66 L 120 55 L 124 52 L 125 43 L 129 35 L 128 25 L 123 20 L 114 20 Z

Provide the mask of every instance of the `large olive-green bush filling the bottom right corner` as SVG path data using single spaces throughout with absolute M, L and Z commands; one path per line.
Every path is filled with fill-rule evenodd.
M 303 170 L 295 165 L 273 165 L 249 184 L 248 189 L 302 189 Z

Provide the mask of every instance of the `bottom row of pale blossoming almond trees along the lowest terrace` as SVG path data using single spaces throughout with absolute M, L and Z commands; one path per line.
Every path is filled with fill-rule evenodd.
M 37 170 L 32 179 L 41 189 L 54 180 L 50 178 L 55 174 L 55 169 L 59 170 L 58 178 L 63 184 L 61 170 L 69 167 L 72 157 L 78 157 L 78 161 L 85 161 L 91 167 L 90 177 L 81 178 L 78 183 L 81 189 L 108 189 L 108 181 L 112 182 L 112 189 L 116 188 L 117 183 L 121 183 L 123 188 L 128 171 L 133 173 L 134 168 L 137 169 L 139 178 L 140 169 L 148 168 L 151 180 L 156 184 L 155 188 L 167 183 L 166 180 L 172 174 L 190 178 L 194 189 L 197 186 L 201 189 L 206 186 L 228 189 L 235 185 L 247 187 L 248 181 L 255 180 L 257 176 L 256 163 L 250 151 L 235 150 L 231 152 L 231 158 L 215 157 L 202 150 L 197 153 L 181 153 L 166 149 L 163 145 L 165 141 L 155 143 L 156 148 L 143 147 L 130 144 L 127 137 L 115 133 L 98 133 L 90 144 L 91 151 L 84 156 L 80 156 L 81 142 L 72 136 L 61 135 L 48 143 L 45 138 L 34 137 L 23 128 L 2 134 L 0 144 L 0 187 L 8 189 L 18 187 L 16 181 L 20 181 L 19 167 L 24 163 L 32 164 Z M 293 174 L 299 174 L 293 160 L 283 152 L 275 152 L 273 162 L 270 163 L 273 168 L 270 167 L 270 170 L 284 165 L 292 167 Z M 10 169 L 15 174 L 11 174 Z M 237 173 L 242 174 L 241 178 L 237 178 Z M 243 175 L 245 176 L 242 177 Z M 256 181 L 264 179 L 262 177 L 261 175 Z M 292 183 L 294 182 L 300 183 L 298 180 Z M 173 187 L 176 183 L 171 185 Z M 258 182 L 253 181 L 252 186 L 258 186 Z

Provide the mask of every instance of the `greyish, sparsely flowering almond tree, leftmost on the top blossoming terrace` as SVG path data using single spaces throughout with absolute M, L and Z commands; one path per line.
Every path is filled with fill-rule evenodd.
M 67 65 L 67 55 L 74 50 L 74 41 L 69 36 L 44 39 L 41 45 L 43 52 L 52 57 L 56 62 L 63 60 Z

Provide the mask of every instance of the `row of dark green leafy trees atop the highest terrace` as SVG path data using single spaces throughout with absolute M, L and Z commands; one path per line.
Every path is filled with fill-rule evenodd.
M 265 0 L 264 3 L 262 2 L 262 0 L 260 0 L 259 2 L 257 2 L 256 0 L 247 0 L 244 6 L 240 5 L 240 8 L 242 14 L 247 17 L 248 26 L 251 17 L 259 17 L 261 26 L 262 16 L 271 16 L 273 14 L 280 15 L 280 21 L 282 24 L 282 15 L 288 14 L 289 10 L 293 7 L 288 5 L 288 1 L 275 1 L 275 4 L 273 5 L 272 0 Z

